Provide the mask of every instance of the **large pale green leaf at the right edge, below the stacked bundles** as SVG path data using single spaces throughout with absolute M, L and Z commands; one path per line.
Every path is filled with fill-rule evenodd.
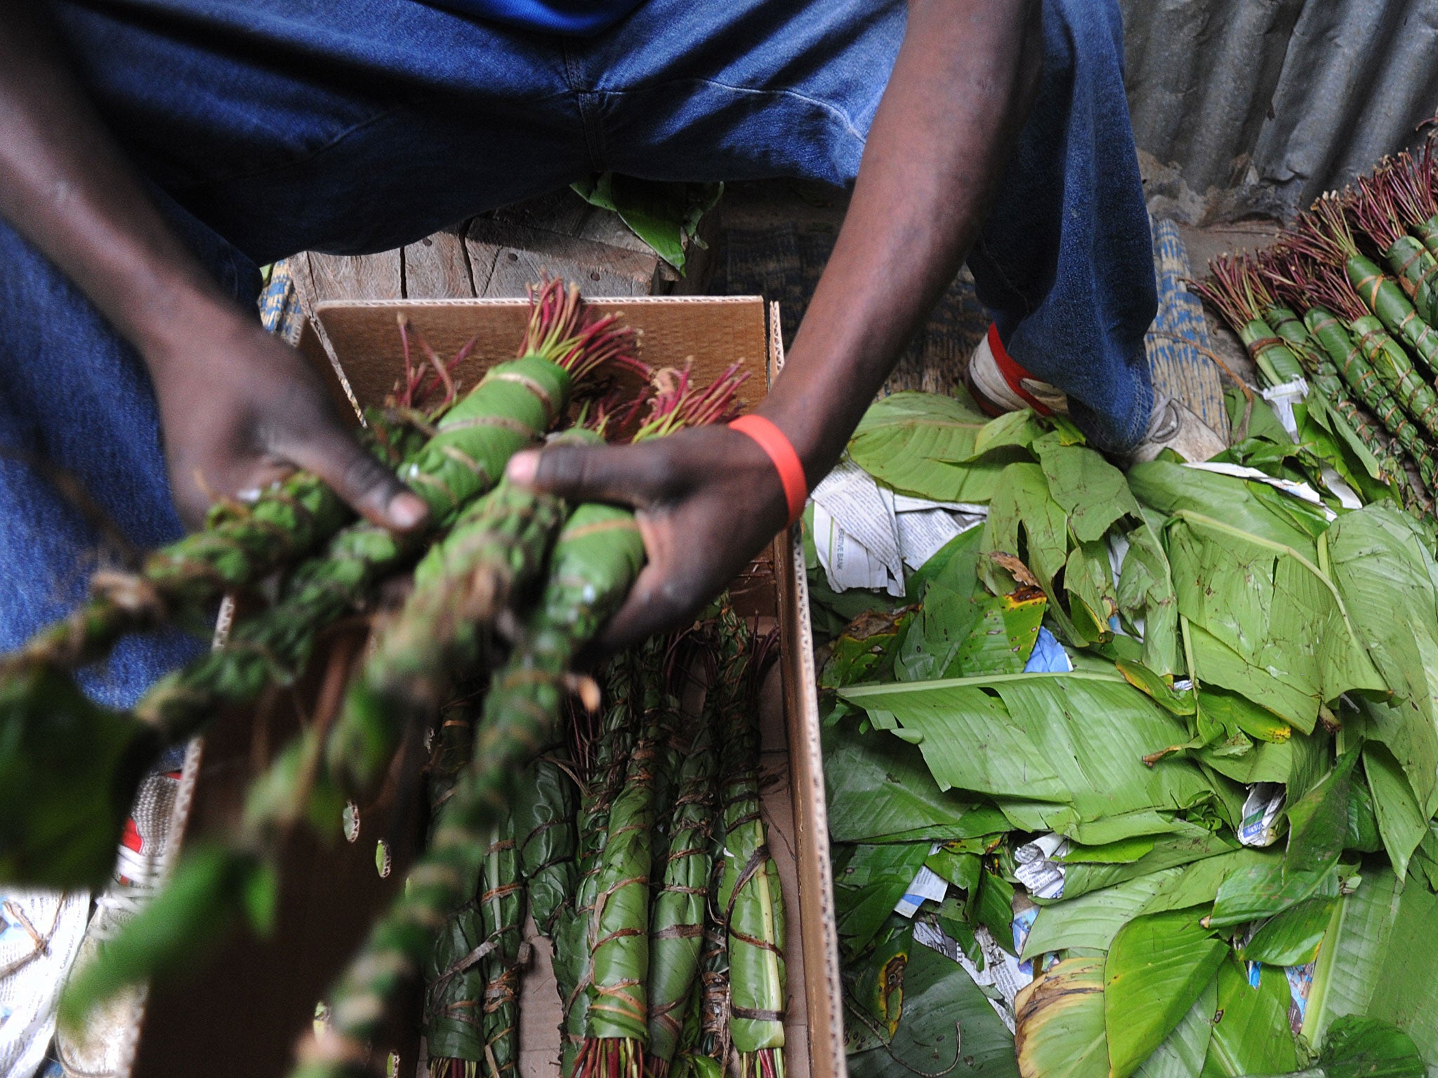
M 1406 515 L 1382 506 L 1340 517 L 1329 556 L 1359 638 L 1393 690 L 1391 709 L 1369 709 L 1369 737 L 1392 752 L 1426 818 L 1438 808 L 1438 563 Z

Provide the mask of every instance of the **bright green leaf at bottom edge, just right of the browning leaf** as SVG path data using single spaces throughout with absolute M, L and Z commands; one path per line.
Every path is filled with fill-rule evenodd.
M 1228 954 L 1201 916 L 1201 907 L 1146 914 L 1113 937 L 1103 967 L 1112 1078 L 1127 1078 L 1153 1054 Z

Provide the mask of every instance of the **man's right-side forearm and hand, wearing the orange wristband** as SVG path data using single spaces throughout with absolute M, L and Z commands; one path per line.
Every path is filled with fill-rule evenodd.
M 844 451 L 982 227 L 1037 88 L 1038 20 L 1035 0 L 910 0 L 844 227 L 759 408 L 788 436 L 811 486 Z M 787 515 L 768 457 L 726 428 L 525 453 L 509 476 L 638 510 L 649 565 L 605 631 L 608 648 L 692 615 Z M 743 505 L 754 506 L 748 516 L 736 512 Z

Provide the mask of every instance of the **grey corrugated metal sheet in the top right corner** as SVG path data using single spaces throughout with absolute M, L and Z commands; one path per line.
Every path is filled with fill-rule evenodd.
M 1290 217 L 1438 109 L 1438 0 L 1120 0 L 1150 207 Z

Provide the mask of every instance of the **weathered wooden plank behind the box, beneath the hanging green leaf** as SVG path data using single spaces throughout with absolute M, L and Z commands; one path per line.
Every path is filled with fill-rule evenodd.
M 476 217 L 464 236 L 475 293 L 523 296 L 545 273 L 580 283 L 594 296 L 649 296 L 659 286 L 660 259 L 594 240 Z

